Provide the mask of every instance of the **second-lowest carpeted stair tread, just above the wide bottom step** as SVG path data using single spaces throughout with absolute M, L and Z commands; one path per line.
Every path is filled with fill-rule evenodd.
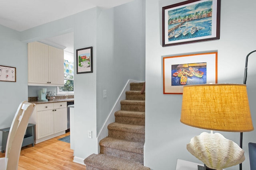
M 100 140 L 100 146 L 143 154 L 144 143 L 106 137 Z

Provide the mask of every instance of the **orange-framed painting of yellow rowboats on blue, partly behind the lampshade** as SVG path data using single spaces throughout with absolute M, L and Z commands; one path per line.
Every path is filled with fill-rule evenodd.
M 217 83 L 217 52 L 163 57 L 164 94 L 182 94 L 183 86 Z

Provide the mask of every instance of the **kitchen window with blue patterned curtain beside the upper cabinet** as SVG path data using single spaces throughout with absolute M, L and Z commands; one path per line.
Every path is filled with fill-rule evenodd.
M 74 94 L 74 54 L 64 51 L 64 86 L 57 87 L 57 94 Z

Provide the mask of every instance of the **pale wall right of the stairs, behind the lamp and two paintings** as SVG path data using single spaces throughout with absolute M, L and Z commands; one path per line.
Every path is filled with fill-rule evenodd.
M 146 143 L 145 166 L 152 170 L 174 170 L 177 159 L 200 162 L 186 150 L 190 139 L 206 131 L 180 123 L 182 95 L 163 94 L 162 56 L 201 51 L 218 51 L 218 83 L 243 83 L 246 55 L 255 50 L 254 0 L 221 1 L 220 40 L 162 47 L 162 7 L 182 0 L 146 1 Z M 154 61 L 154 62 L 152 62 Z M 256 53 L 249 57 L 248 97 L 256 126 Z M 239 145 L 240 133 L 220 132 Z M 256 131 L 244 133 L 243 149 L 248 170 L 248 142 L 256 142 Z M 239 166 L 226 168 L 237 170 Z

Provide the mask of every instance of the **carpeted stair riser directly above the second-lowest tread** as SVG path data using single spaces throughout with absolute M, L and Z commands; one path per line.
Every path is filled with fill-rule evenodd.
M 132 132 L 124 132 L 124 131 L 109 129 L 108 136 L 118 138 L 118 139 L 124 139 L 128 141 L 145 143 L 145 134 L 141 134 L 141 133 L 132 133 Z

